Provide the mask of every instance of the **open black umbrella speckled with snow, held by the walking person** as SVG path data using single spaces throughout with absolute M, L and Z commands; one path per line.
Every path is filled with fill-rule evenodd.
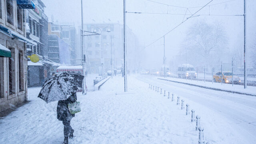
M 66 100 L 71 94 L 82 88 L 84 76 L 75 72 L 63 72 L 52 76 L 42 87 L 38 98 L 46 103 Z

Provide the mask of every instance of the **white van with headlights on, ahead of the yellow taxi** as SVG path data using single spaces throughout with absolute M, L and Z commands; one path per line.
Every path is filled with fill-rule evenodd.
M 178 66 L 178 77 L 180 78 L 196 78 L 197 74 L 194 66 L 191 64 L 181 64 Z

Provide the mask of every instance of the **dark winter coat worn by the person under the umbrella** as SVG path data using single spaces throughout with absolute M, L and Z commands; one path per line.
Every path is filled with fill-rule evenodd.
M 75 114 L 70 114 L 68 104 L 76 102 L 76 93 L 72 94 L 66 100 L 59 100 L 57 105 L 57 118 L 60 121 L 70 121 Z

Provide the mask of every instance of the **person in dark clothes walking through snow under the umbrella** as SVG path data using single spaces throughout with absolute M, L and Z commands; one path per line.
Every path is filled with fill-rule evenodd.
M 75 114 L 70 114 L 68 110 L 68 104 L 76 102 L 76 93 L 73 93 L 66 100 L 59 100 L 57 105 L 57 118 L 62 121 L 64 125 L 64 142 L 63 144 L 68 144 L 68 137 L 70 139 L 73 138 L 74 130 L 70 126 L 71 119 L 75 116 Z

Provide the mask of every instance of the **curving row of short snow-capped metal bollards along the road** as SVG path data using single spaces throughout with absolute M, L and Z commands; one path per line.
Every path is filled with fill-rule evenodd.
M 153 86 L 149 84 L 149 89 L 155 90 L 159 92 L 159 87 Z M 160 88 L 160 94 L 163 94 L 163 89 Z M 164 97 L 166 96 L 166 90 L 164 90 Z M 168 99 L 170 99 L 170 92 L 168 92 Z M 174 94 L 172 94 L 172 102 L 174 101 Z M 177 96 L 177 105 L 180 105 L 180 96 Z M 181 100 L 181 109 L 185 109 L 184 107 L 184 100 Z M 191 110 L 191 122 L 196 122 L 196 130 L 199 130 L 199 140 L 198 144 L 204 144 L 204 128 L 200 126 L 200 116 L 197 115 L 195 118 L 195 110 Z M 186 104 L 186 115 L 190 115 L 189 104 Z M 212 144 L 211 142 L 207 142 L 206 144 Z

